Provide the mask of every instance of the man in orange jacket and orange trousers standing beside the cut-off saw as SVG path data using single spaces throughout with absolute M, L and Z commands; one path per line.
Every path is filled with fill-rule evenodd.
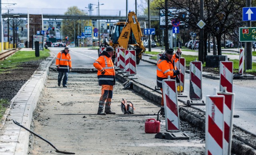
M 98 82 L 101 88 L 101 97 L 98 108 L 98 115 L 116 114 L 111 111 L 111 99 L 113 96 L 113 86 L 116 83 L 115 69 L 112 62 L 112 55 L 114 54 L 114 48 L 108 46 L 106 50 L 102 52 L 100 57 L 94 61 L 93 66 L 98 70 Z M 105 107 L 105 110 L 104 110 Z M 104 110 L 104 112 L 103 112 Z

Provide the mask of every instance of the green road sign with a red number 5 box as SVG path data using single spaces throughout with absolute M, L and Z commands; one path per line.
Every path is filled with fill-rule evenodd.
M 240 42 L 256 41 L 256 27 L 240 27 L 239 41 Z

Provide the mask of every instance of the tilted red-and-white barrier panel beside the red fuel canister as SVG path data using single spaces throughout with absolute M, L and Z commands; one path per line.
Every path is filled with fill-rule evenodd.
M 176 80 L 163 80 L 164 112 L 166 131 L 180 130 L 180 115 L 178 107 L 178 94 Z

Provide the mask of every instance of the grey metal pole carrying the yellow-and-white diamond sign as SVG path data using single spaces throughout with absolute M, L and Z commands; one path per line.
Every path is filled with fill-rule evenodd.
M 204 0 L 200 0 L 200 20 L 204 20 Z M 204 28 L 199 31 L 198 60 L 204 64 Z

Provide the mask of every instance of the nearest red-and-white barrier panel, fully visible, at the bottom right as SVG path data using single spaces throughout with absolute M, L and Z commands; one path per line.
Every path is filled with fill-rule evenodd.
M 206 96 L 205 154 L 224 155 L 224 100 L 223 95 Z

